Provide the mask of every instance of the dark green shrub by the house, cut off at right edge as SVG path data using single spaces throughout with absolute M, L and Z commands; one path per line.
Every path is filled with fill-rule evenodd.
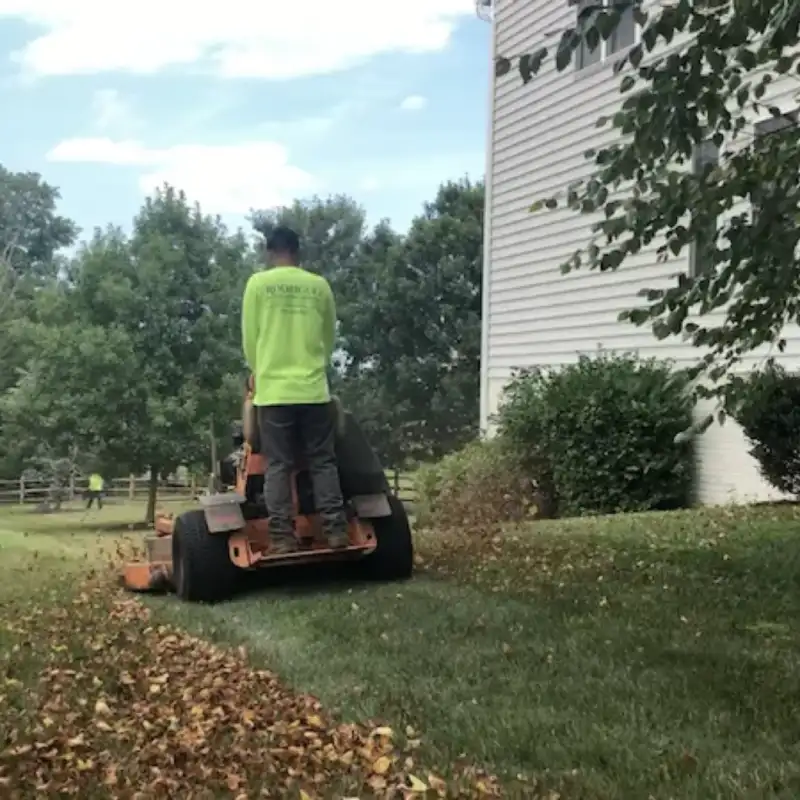
M 750 440 L 764 478 L 782 492 L 800 494 L 800 375 L 771 364 L 740 386 L 726 411 Z

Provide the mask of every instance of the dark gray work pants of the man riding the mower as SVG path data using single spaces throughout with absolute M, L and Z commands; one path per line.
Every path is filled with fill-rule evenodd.
M 297 457 L 308 464 L 314 505 L 326 536 L 347 531 L 336 465 L 336 422 L 330 403 L 258 406 L 261 451 L 267 459 L 264 499 L 273 536 L 292 535 L 292 470 Z

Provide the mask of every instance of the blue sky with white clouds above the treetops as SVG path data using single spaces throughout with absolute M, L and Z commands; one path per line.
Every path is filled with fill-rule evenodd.
M 343 192 L 402 229 L 442 180 L 482 176 L 471 0 L 204 7 L 0 0 L 0 161 L 59 186 L 86 232 L 162 180 L 233 225 Z

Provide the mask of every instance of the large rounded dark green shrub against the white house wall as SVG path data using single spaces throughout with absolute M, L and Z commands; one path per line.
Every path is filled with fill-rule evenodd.
M 518 373 L 497 415 L 500 437 L 540 476 L 562 515 L 687 505 L 692 422 L 684 373 L 633 356 L 581 357 Z

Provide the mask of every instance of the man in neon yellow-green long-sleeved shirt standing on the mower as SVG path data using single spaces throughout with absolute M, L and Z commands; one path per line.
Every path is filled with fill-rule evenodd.
M 267 459 L 264 495 L 276 553 L 297 547 L 291 485 L 296 455 L 308 463 L 329 547 L 348 545 L 327 376 L 336 304 L 328 281 L 299 266 L 299 252 L 298 235 L 276 228 L 267 239 L 269 268 L 250 277 L 242 301 L 242 342 L 255 383 L 253 405 Z

